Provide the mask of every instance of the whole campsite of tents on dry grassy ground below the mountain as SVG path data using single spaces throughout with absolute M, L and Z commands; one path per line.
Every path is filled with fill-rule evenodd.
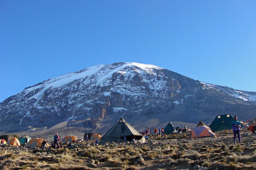
M 217 119 L 221 117 L 233 116 L 222 115 Z M 219 122 L 213 125 L 223 130 L 213 132 L 199 121 L 188 133 L 172 131 L 174 125 L 169 122 L 166 134 L 152 133 L 145 138 L 121 117 L 104 135 L 85 133 L 84 140 L 69 135 L 62 139 L 58 149 L 50 145 L 42 149 L 42 138 L 13 137 L 0 147 L 0 168 L 255 169 L 256 135 L 244 128 L 242 142 L 235 144 L 230 126 L 223 126 L 229 120 Z M 96 139 L 100 140 L 98 144 Z

